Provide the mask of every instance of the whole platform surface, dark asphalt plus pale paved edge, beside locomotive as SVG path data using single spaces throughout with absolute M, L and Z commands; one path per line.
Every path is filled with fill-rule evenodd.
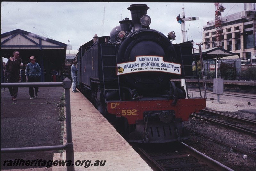
M 27 129 L 26 127 L 32 125 L 31 132 L 32 135 L 26 138 L 26 135 L 20 137 L 14 137 L 14 141 L 17 142 L 17 147 L 23 147 L 22 142 L 28 142 L 33 144 L 33 141 L 39 141 L 39 143 L 45 141 L 42 136 L 38 136 L 38 126 L 43 127 L 42 132 L 50 133 L 49 131 L 53 127 L 49 127 L 48 123 L 53 120 L 54 111 L 56 110 L 56 103 L 60 100 L 61 93 L 64 92 L 64 89 L 61 87 L 58 88 L 39 88 L 38 98 L 30 100 L 28 94 L 28 88 L 19 88 L 17 101 L 12 101 L 8 88 L 4 90 L 1 89 L 1 120 L 8 119 L 10 124 L 11 120 L 17 120 L 14 122 L 14 131 L 19 129 Z M 46 104 L 46 102 L 56 102 L 51 104 Z M 116 131 L 116 129 L 100 114 L 98 110 L 80 93 L 73 93 L 70 89 L 70 103 L 71 103 L 71 126 L 72 126 L 72 142 L 74 144 L 74 162 L 79 166 L 75 166 L 75 171 L 152 171 L 152 169 L 147 165 L 147 163 L 139 156 L 138 153 L 125 141 L 125 139 Z M 13 112 L 5 112 L 3 115 L 2 112 L 8 110 L 8 106 L 13 109 Z M 28 106 L 34 106 L 33 108 L 28 108 Z M 52 110 L 44 112 L 45 109 L 51 106 Z M 36 107 L 36 109 L 35 109 Z M 23 109 L 26 110 L 23 110 Z M 26 112 L 25 112 L 26 111 Z M 4 113 L 4 112 L 3 112 Z M 54 113 L 53 116 L 51 113 Z M 13 115 L 13 116 L 11 116 Z M 29 115 L 29 116 L 27 116 Z M 45 116 L 47 115 L 47 116 Z M 49 115 L 49 116 L 48 116 Z M 4 118 L 3 118 L 4 117 Z M 10 118 L 12 117 L 12 118 Z M 45 122 L 41 123 L 40 121 L 44 120 Z M 20 123 L 22 122 L 22 124 Z M 6 121 L 5 121 L 6 122 Z M 38 123 L 40 122 L 40 123 Z M 58 121 L 57 121 L 58 122 Z M 6 123 L 6 124 L 8 124 Z M 1 128 L 3 128 L 1 123 Z M 5 125 L 6 125 L 5 124 Z M 8 124 L 8 125 L 9 125 Z M 43 124 L 43 125 L 41 125 Z M 24 128 L 21 128 L 21 125 Z M 66 131 L 66 124 L 64 124 Z M 59 128 L 59 126 L 57 126 Z M 4 133 L 1 130 L 1 136 Z M 12 133 L 15 134 L 15 133 Z M 31 134 L 31 133 L 30 133 Z M 35 134 L 35 135 L 34 135 Z M 50 133 L 52 134 L 52 133 Z M 35 138 L 35 136 L 38 138 Z M 48 134 L 47 134 L 48 135 Z M 46 135 L 45 135 L 46 136 Z M 59 134 L 60 136 L 60 134 Z M 25 140 L 24 140 L 25 137 Z M 8 138 L 8 133 L 6 136 L 2 136 L 4 139 Z M 42 140 L 43 139 L 43 140 Z M 12 139 L 10 139 L 13 141 Z M 48 140 L 48 139 L 47 139 Z M 20 142 L 20 143 L 19 143 Z M 51 140 L 47 141 L 50 143 Z M 64 133 L 63 144 L 66 144 L 66 132 Z M 44 144 L 47 145 L 47 144 Z M 49 144 L 48 144 L 49 145 Z M 49 145 L 49 146 L 50 146 Z M 33 146 L 33 145 L 31 145 Z M 35 145 L 37 146 L 37 145 Z M 39 145 L 40 146 L 40 145 Z M 2 147 L 2 145 L 1 145 Z M 16 146 L 15 146 L 16 147 Z M 6 148 L 6 147 L 4 147 Z M 12 146 L 9 146 L 12 148 Z M 45 159 L 44 155 L 47 153 L 37 153 L 33 152 L 33 159 Z M 18 155 L 23 155 L 23 153 L 16 153 Z M 35 155 L 34 155 L 35 154 Z M 24 154 L 26 155 L 26 154 Z M 28 155 L 28 153 L 27 153 Z M 30 154 L 29 154 L 30 155 Z M 2 156 L 3 157 L 3 156 Z M 30 157 L 17 157 L 22 158 L 23 160 L 29 160 Z M 12 160 L 12 158 L 6 158 L 4 160 Z M 13 159 L 14 160 L 14 159 Z M 36 159 L 35 159 L 36 160 Z M 66 160 L 66 153 L 54 153 L 53 158 L 47 158 L 48 160 Z M 82 164 L 82 162 L 84 163 Z M 97 161 L 99 161 L 98 166 Z M 2 163 L 3 164 L 3 163 Z M 67 170 L 66 166 L 52 166 L 52 167 L 12 167 L 11 169 L 2 168 L 1 170 L 5 171 L 65 171 Z

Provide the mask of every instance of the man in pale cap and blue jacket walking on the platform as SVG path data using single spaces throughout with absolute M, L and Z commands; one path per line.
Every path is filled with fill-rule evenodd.
M 34 56 L 29 58 L 30 63 L 27 65 L 25 70 L 25 75 L 28 77 L 28 82 L 40 82 L 41 76 L 41 68 L 38 63 L 36 63 L 36 59 Z M 30 99 L 35 99 L 38 93 L 38 87 L 35 88 L 35 95 L 33 87 L 29 87 L 29 95 Z

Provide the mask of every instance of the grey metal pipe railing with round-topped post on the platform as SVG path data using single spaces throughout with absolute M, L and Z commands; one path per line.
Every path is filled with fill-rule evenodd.
M 66 101 L 66 132 L 67 143 L 59 146 L 37 146 L 37 147 L 22 147 L 22 148 L 1 148 L 1 153 L 19 153 L 19 152 L 37 152 L 37 151 L 52 151 L 66 150 L 66 160 L 71 161 L 73 166 L 66 166 L 67 171 L 74 171 L 74 146 L 72 142 L 71 132 L 71 110 L 70 110 L 70 91 L 71 81 L 65 78 L 63 82 L 23 82 L 23 83 L 1 83 L 1 87 L 63 87 L 65 89 Z

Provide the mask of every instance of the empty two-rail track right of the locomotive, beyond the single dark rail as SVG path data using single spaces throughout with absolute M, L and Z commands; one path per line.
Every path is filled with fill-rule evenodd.
M 225 126 L 236 131 L 241 131 L 248 133 L 250 135 L 256 136 L 256 121 L 246 118 L 239 118 L 236 116 L 227 115 L 224 113 L 216 112 L 213 110 L 201 110 L 201 114 L 192 113 L 191 116 L 196 118 L 204 119 L 209 122 Z M 214 119 L 213 119 L 214 118 Z M 224 121 L 219 120 L 219 118 L 224 118 Z M 217 120 L 218 119 L 218 120 Z M 234 122 L 235 120 L 235 122 Z M 249 125 L 250 124 L 250 125 Z M 240 126 L 244 125 L 244 126 Z M 246 127 L 245 127 L 246 126 Z

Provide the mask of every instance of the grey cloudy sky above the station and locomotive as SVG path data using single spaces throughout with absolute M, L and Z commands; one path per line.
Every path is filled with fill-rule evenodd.
M 181 42 L 183 3 L 175 2 L 3 2 L 1 3 L 1 33 L 21 29 L 67 44 L 72 50 L 93 39 L 94 35 L 108 36 L 111 30 L 126 17 L 131 19 L 127 8 L 131 4 L 147 4 L 147 14 L 152 19 L 150 28 L 167 35 L 176 34 Z M 244 3 L 223 3 L 226 9 L 222 17 L 244 11 Z M 187 21 L 188 40 L 202 42 L 202 27 L 215 19 L 213 2 L 184 3 L 186 17 L 199 17 L 198 21 Z M 104 12 L 105 8 L 105 12 Z

